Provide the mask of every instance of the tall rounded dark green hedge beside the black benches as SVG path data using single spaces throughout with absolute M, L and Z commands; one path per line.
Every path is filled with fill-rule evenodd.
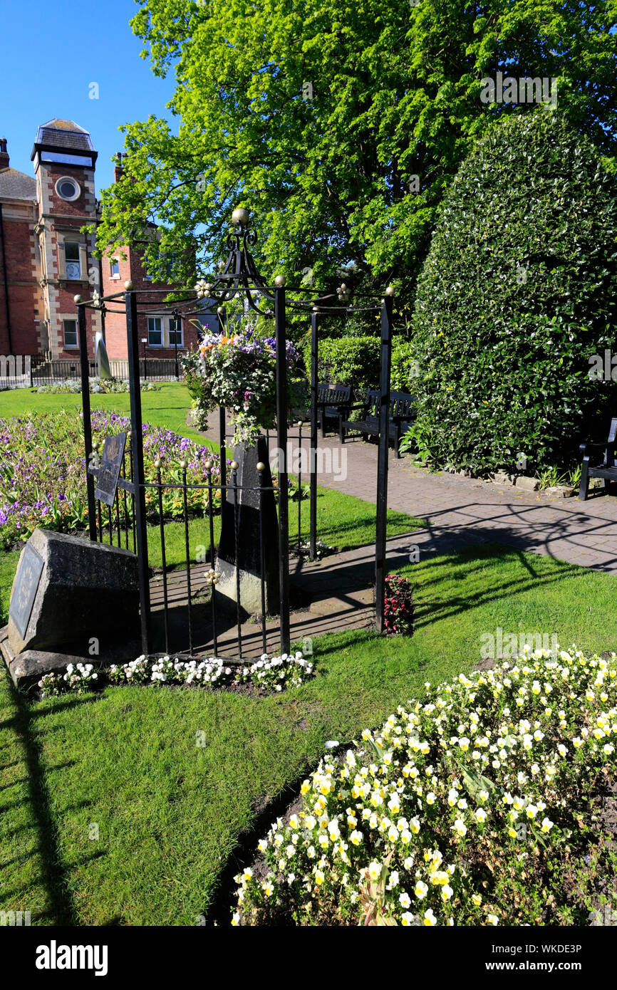
M 501 121 L 463 162 L 418 284 L 434 463 L 569 465 L 617 415 L 617 383 L 589 377 L 616 330 L 615 176 L 559 109 Z

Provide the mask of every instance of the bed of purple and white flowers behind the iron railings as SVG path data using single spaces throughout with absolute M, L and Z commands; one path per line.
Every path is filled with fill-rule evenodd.
M 130 420 L 117 413 L 93 411 L 93 443 L 102 448 L 105 437 L 129 433 Z M 156 480 L 156 459 L 162 461 L 162 480 L 181 482 L 180 461 L 187 462 L 188 484 L 207 481 L 205 463 L 213 463 L 212 480 L 220 481 L 219 455 L 170 430 L 143 427 L 146 480 Z M 66 532 L 87 525 L 85 461 L 81 413 L 65 410 L 30 418 L 0 419 L 0 548 L 27 540 L 37 526 Z M 129 468 L 127 467 L 127 470 Z M 220 507 L 220 490 L 213 492 L 214 508 Z M 207 490 L 188 489 L 188 512 L 201 515 L 208 507 Z M 146 489 L 146 508 L 151 521 L 158 518 L 157 495 Z M 179 519 L 183 513 L 182 492 L 163 489 L 163 517 Z

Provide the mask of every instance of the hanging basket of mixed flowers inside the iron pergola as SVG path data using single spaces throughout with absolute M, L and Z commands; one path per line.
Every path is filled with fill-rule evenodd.
M 286 344 L 287 384 L 298 352 Z M 193 396 L 198 428 L 218 406 L 230 410 L 236 445 L 252 445 L 260 430 L 271 429 L 276 417 L 276 354 L 273 338 L 253 332 L 224 337 L 206 334 L 196 351 L 181 359 L 184 379 Z M 287 389 L 288 403 L 290 388 Z

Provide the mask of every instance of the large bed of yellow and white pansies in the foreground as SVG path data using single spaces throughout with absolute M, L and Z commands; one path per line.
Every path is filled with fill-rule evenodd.
M 236 877 L 232 924 L 589 924 L 617 875 L 594 819 L 617 656 L 526 653 L 426 687 L 322 759 Z

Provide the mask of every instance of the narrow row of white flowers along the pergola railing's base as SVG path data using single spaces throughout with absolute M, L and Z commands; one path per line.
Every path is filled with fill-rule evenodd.
M 296 653 L 268 656 L 262 653 L 255 663 L 227 664 L 221 657 L 183 660 L 176 656 L 138 656 L 129 663 L 113 663 L 94 670 L 92 663 L 69 663 L 64 673 L 45 674 L 39 681 L 42 697 L 69 692 L 83 693 L 105 684 L 151 684 L 160 686 L 215 688 L 251 684 L 258 693 L 279 692 L 299 687 L 313 676 L 313 662 Z

